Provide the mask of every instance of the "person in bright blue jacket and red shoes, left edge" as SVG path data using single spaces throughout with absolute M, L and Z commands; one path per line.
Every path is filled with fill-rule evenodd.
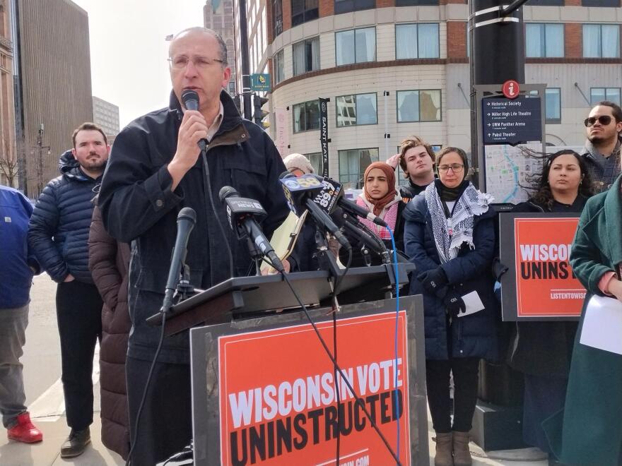
M 23 354 L 33 273 L 39 263 L 28 249 L 33 205 L 19 191 L 0 185 L 0 414 L 11 440 L 35 443 L 43 434 L 25 406 Z

